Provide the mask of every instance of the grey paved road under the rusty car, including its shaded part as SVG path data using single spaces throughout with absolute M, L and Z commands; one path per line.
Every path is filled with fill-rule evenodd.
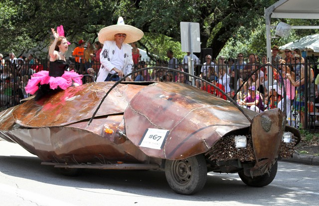
M 273 183 L 252 188 L 237 174 L 209 173 L 193 196 L 171 191 L 162 171 L 88 170 L 61 176 L 19 145 L 0 141 L 2 206 L 318 206 L 319 167 L 279 162 Z

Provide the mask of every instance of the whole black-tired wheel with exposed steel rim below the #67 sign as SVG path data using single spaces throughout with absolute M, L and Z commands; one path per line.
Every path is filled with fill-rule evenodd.
M 202 154 L 183 160 L 166 160 L 165 176 L 171 189 L 181 195 L 200 191 L 207 179 L 207 165 Z

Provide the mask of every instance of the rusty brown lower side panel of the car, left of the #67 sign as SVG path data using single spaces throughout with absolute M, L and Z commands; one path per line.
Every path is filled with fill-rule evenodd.
M 12 119 L 12 118 L 11 118 Z M 11 121 L 15 124 L 13 121 Z M 64 127 L 17 128 L 1 131 L 6 140 L 14 141 L 43 161 L 60 163 L 107 161 L 144 162 L 150 158 L 130 140 L 117 131 L 124 130 L 123 115 L 96 118 Z M 113 129 L 112 134 L 104 132 L 104 126 Z

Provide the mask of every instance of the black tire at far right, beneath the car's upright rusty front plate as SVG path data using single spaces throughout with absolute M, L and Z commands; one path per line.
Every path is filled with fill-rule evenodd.
M 261 176 L 256 176 L 254 178 L 250 176 L 246 176 L 244 174 L 244 171 L 238 172 L 238 175 L 240 179 L 248 186 L 251 187 L 264 187 L 266 185 L 269 185 L 276 177 L 277 174 L 277 169 L 278 169 L 278 162 L 272 166 L 272 168 L 269 171 L 269 174 L 263 174 Z

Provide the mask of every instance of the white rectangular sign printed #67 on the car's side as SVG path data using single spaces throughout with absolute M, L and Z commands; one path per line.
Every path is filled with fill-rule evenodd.
M 168 136 L 168 130 L 149 128 L 145 131 L 139 145 L 152 149 L 161 149 Z

